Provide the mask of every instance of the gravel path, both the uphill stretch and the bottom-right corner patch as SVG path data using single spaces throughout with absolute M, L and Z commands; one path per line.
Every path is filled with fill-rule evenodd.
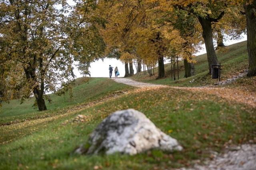
M 170 87 L 158 84 L 150 84 L 137 82 L 128 78 L 113 78 L 114 81 L 118 83 L 128 84 L 135 87 Z M 170 88 L 179 88 L 184 90 L 193 90 L 193 91 L 204 91 L 208 94 L 222 94 L 225 98 L 230 100 L 236 100 L 249 104 L 252 107 L 256 106 L 256 95 L 255 94 L 246 94 L 244 92 L 236 92 L 234 95 L 230 96 L 224 93 L 228 92 L 226 88 L 180 88 L 180 87 L 170 87 Z M 217 91 L 216 91 L 217 90 Z M 241 96 L 240 96 L 241 95 Z M 246 100 L 241 100 L 241 99 Z M 196 164 L 193 168 L 181 168 L 179 170 L 256 170 L 256 145 L 246 144 L 234 148 L 228 148 L 224 153 L 213 154 L 212 160 L 207 160 L 204 162 L 204 165 Z

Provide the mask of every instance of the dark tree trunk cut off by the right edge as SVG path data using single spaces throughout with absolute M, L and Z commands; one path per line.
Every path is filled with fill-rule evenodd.
M 256 76 L 256 0 L 244 3 L 247 28 L 247 51 L 249 71 L 247 76 Z

